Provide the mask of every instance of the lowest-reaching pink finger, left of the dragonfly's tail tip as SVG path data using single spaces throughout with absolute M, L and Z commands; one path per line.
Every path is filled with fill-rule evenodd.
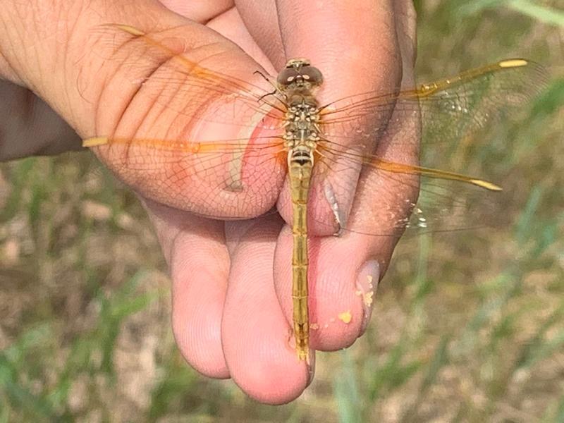
M 274 292 L 278 228 L 278 221 L 258 219 L 238 234 L 222 323 L 231 377 L 247 395 L 269 404 L 298 398 L 310 376 L 292 347 L 290 325 Z

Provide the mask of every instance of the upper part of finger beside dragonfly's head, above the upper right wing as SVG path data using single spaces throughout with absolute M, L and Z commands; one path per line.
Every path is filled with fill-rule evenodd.
M 324 73 L 321 103 L 392 92 L 401 80 L 391 1 L 277 1 L 286 59 L 307 57 Z

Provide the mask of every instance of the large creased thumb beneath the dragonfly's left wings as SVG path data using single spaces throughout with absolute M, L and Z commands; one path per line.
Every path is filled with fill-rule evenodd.
M 46 10 L 39 0 L 8 0 L 0 11 L 4 78 L 45 99 L 83 139 L 115 141 L 94 151 L 145 197 L 214 217 L 270 209 L 283 172 L 272 172 L 274 153 L 252 164 L 241 147 L 259 135 L 252 122 L 265 115 L 257 99 L 269 85 L 252 74 L 257 63 L 157 1 L 83 3 L 51 1 Z M 222 73 L 215 77 L 208 69 Z M 256 85 L 246 81 L 265 90 L 250 94 Z M 223 117 L 200 116 L 212 111 Z M 200 148 L 209 140 L 231 142 Z M 281 142 L 267 147 L 278 152 Z

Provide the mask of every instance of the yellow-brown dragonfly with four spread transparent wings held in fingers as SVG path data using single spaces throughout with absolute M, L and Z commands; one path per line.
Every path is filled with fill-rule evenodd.
M 153 66 L 150 72 L 137 68 L 136 89 L 155 100 L 159 113 L 176 113 L 190 125 L 158 137 L 115 131 L 87 138 L 83 146 L 102 153 L 125 183 L 172 207 L 214 219 L 284 216 L 293 233 L 299 360 L 309 360 L 311 233 L 399 238 L 405 231 L 484 223 L 501 186 L 432 165 L 522 109 L 546 80 L 537 63 L 505 59 L 409 90 L 321 104 L 324 77 L 307 59 L 290 59 L 276 77 L 259 73 L 261 86 L 204 68 L 166 39 L 135 27 L 107 27 L 114 37 L 125 35 L 124 43 L 136 42 L 143 63 Z M 114 60 L 135 68 L 135 58 L 119 56 L 119 45 Z M 391 149 L 404 158 L 388 157 Z

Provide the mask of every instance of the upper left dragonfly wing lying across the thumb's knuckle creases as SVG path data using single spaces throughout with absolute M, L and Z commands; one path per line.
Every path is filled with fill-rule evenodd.
M 123 92 L 142 95 L 145 104 L 175 111 L 192 123 L 265 129 L 282 124 L 284 104 L 271 94 L 274 88 L 266 77 L 253 74 L 252 68 L 238 77 L 200 66 L 197 49 L 189 49 L 174 30 L 149 35 L 128 25 L 111 24 L 97 27 L 92 36 L 102 46 L 102 66 L 123 74 L 130 81 Z M 195 58 L 191 60 L 189 54 Z M 226 59 L 223 68 L 235 72 L 236 64 Z

